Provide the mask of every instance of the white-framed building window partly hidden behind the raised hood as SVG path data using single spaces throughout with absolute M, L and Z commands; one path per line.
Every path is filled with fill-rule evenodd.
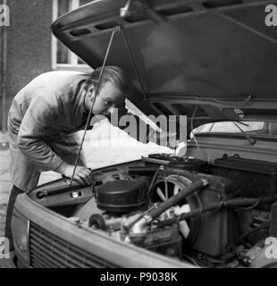
M 77 9 L 80 5 L 88 4 L 91 0 L 53 0 L 53 21 L 64 13 Z M 72 53 L 57 38 L 52 38 L 52 67 L 53 69 L 78 68 L 88 71 L 90 68 L 77 55 Z

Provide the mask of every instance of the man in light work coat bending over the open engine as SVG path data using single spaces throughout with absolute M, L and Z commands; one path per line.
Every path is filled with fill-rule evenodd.
M 100 71 L 97 68 L 89 76 L 75 71 L 46 72 L 14 97 L 8 116 L 13 189 L 5 227 L 11 246 L 10 223 L 16 197 L 36 187 L 42 171 L 71 178 L 80 148 L 74 132 L 85 128 Z M 105 67 L 92 114 L 108 116 L 116 107 L 120 107 L 120 114 L 126 113 L 124 102 L 130 92 L 130 80 L 124 72 L 115 66 Z M 93 183 L 83 156 L 73 179 Z

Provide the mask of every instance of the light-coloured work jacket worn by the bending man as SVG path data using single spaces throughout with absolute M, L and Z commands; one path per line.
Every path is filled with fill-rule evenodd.
M 63 162 L 75 164 L 80 148 L 76 131 L 85 128 L 88 116 L 84 103 L 87 79 L 88 74 L 77 71 L 49 71 L 30 81 L 13 98 L 8 130 L 12 179 L 17 188 L 33 189 L 40 172 L 55 171 Z M 125 105 L 118 107 L 119 116 L 128 114 Z M 135 118 L 140 125 L 147 125 Z M 147 143 L 146 138 L 132 133 L 130 136 Z M 86 165 L 83 154 L 78 164 Z

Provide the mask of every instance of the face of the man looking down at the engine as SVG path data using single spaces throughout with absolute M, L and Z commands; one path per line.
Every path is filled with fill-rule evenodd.
M 92 96 L 90 96 L 92 99 Z M 100 88 L 95 104 L 92 109 L 92 113 L 103 114 L 105 116 L 112 114 L 113 109 L 121 105 L 125 101 L 125 96 L 122 95 L 122 91 L 116 88 L 111 81 L 106 81 L 105 84 Z M 90 100 L 89 107 L 92 105 Z

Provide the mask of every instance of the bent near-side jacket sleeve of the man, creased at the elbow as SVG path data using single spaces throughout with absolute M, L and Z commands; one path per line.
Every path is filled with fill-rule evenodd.
M 39 88 L 21 122 L 18 147 L 40 171 L 55 171 L 63 164 L 62 158 L 45 141 L 49 127 L 55 124 L 58 114 L 59 104 L 55 93 Z

